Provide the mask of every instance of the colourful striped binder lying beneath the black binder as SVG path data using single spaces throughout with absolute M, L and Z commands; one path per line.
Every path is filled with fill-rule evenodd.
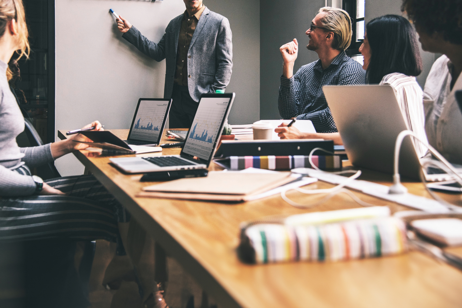
M 309 156 L 230 156 L 231 170 L 242 170 L 250 167 L 269 170 L 290 170 L 294 168 L 310 168 Z M 311 157 L 313 164 L 322 170 L 340 169 L 342 161 L 339 155 Z

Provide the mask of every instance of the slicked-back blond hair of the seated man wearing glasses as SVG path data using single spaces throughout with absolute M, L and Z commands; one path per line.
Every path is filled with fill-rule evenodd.
M 334 42 L 332 48 L 345 50 L 350 46 L 353 31 L 351 29 L 351 18 L 342 9 L 324 6 L 319 9 L 319 13 L 326 13 L 321 18 L 322 27 L 334 32 Z

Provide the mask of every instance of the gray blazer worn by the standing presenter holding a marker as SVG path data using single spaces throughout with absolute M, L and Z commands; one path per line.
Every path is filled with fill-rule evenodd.
M 165 59 L 164 98 L 170 98 L 176 69 L 176 51 L 183 14 L 170 20 L 165 34 L 157 44 L 148 40 L 138 29 L 131 27 L 122 37 L 143 54 L 156 61 Z M 231 79 L 232 34 L 226 17 L 207 7 L 197 23 L 188 50 L 189 95 L 199 102 L 201 94 L 225 89 Z

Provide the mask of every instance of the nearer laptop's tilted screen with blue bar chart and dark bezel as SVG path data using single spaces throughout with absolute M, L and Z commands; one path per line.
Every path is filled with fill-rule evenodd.
M 204 94 L 201 97 L 182 155 L 198 157 L 207 165 L 210 163 L 233 99 L 234 93 Z

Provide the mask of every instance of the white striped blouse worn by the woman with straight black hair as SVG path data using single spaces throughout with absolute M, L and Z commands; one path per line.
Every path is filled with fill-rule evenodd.
M 400 106 L 407 129 L 415 133 L 419 139 L 427 142 L 423 92 L 415 77 L 395 72 L 383 76 L 380 85 L 391 85 L 395 90 L 396 100 Z M 414 140 L 412 141 L 417 155 L 423 157 L 427 152 L 426 146 Z

